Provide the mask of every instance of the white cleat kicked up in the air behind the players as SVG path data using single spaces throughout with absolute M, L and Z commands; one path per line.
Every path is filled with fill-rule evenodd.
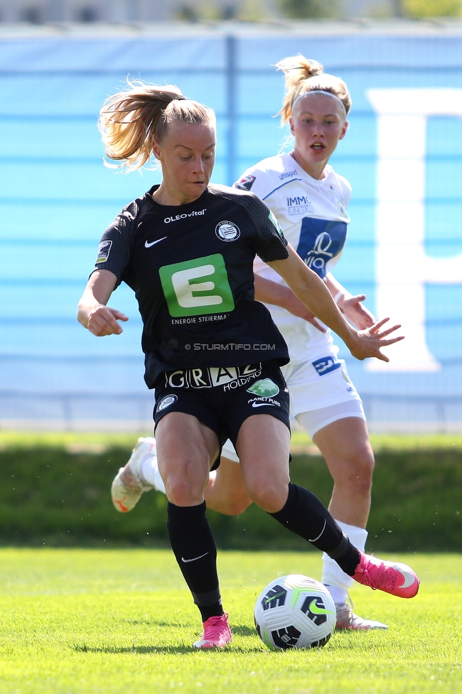
M 141 465 L 147 457 L 155 456 L 156 439 L 151 436 L 138 439 L 127 465 L 119 469 L 112 482 L 112 503 L 120 513 L 131 511 L 144 491 L 154 489 L 141 475 Z

